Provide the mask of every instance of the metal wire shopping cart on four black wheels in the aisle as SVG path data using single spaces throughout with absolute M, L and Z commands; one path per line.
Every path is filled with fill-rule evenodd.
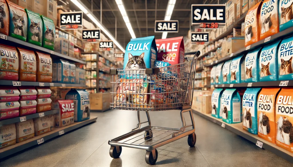
M 195 66 L 200 51 L 192 60 L 162 68 L 142 70 L 111 69 L 113 103 L 111 109 L 136 110 L 138 124 L 131 132 L 109 140 L 110 156 L 118 158 L 123 147 L 147 150 L 145 160 L 153 165 L 158 158 L 156 148 L 188 136 L 188 145 L 194 147 L 196 135 L 191 111 Z M 181 110 L 180 129 L 151 126 L 149 111 Z M 145 111 L 147 121 L 142 122 L 140 111 Z M 191 125 L 186 125 L 183 113 L 189 112 Z M 148 126 L 141 127 L 148 123 Z

